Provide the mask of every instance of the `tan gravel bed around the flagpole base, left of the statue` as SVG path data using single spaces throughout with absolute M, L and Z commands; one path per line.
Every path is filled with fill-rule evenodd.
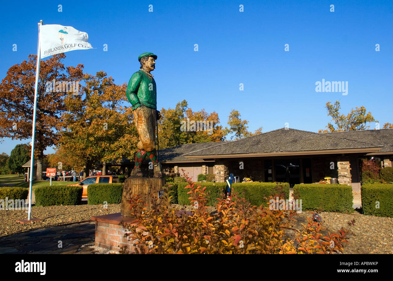
M 108 209 L 106 210 L 103 209 L 103 205 L 87 204 L 77 206 L 33 206 L 31 208 L 31 217 L 44 220 L 29 224 L 20 224 L 15 221 L 20 219 L 27 219 L 27 211 L 1 210 L 0 237 L 37 228 L 47 228 L 73 222 L 82 222 L 90 220 L 94 216 L 108 215 L 119 212 L 120 204 L 108 205 Z

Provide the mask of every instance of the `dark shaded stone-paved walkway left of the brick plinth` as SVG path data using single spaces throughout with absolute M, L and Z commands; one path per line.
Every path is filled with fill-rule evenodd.
M 93 254 L 94 237 L 95 222 L 39 228 L 37 230 L 0 237 L 0 254 Z

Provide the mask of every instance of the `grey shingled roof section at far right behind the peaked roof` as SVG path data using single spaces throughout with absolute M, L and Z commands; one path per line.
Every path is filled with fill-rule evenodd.
M 378 154 L 393 152 L 393 129 L 332 132 L 325 134 L 349 140 L 365 141 L 374 145 L 383 145 L 378 151 Z

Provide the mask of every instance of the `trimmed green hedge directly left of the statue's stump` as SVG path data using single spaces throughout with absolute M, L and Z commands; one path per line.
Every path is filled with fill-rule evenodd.
M 87 187 L 87 204 L 119 204 L 123 195 L 123 184 L 89 184 Z

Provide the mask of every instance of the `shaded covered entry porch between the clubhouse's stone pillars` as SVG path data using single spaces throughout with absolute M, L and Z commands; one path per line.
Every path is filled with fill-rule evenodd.
M 217 159 L 216 178 L 227 178 L 229 174 L 251 178 L 258 182 L 288 182 L 295 184 L 318 183 L 325 177 L 337 178 L 339 184 L 352 185 L 360 191 L 359 155 L 297 155 L 259 157 L 245 159 Z M 220 173 L 220 172 L 219 172 Z M 219 180 L 221 181 L 221 180 Z

